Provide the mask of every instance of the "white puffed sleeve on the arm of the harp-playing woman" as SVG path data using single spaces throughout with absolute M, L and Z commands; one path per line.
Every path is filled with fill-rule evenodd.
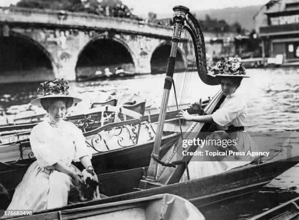
M 241 99 L 229 100 L 224 106 L 212 114 L 214 122 L 225 126 L 233 121 L 246 108 L 246 103 Z

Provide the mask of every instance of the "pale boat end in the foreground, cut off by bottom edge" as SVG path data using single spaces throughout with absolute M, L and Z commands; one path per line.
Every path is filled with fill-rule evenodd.
M 93 205 L 85 208 L 69 209 L 27 216 L 31 219 L 101 219 L 101 220 L 204 220 L 203 215 L 188 200 L 171 195 L 159 194 L 146 198 Z

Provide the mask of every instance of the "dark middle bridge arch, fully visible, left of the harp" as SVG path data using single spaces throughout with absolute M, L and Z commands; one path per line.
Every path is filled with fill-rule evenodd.
M 75 68 L 76 77 L 93 75 L 98 69 L 104 73 L 107 67 L 111 72 L 117 67 L 136 72 L 138 62 L 135 54 L 121 39 L 97 36 L 80 50 Z

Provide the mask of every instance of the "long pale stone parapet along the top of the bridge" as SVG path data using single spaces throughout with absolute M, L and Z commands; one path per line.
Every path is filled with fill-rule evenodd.
M 122 32 L 170 38 L 172 28 L 133 19 L 113 18 L 88 13 L 59 10 L 0 7 L 0 22 L 76 29 L 115 29 Z

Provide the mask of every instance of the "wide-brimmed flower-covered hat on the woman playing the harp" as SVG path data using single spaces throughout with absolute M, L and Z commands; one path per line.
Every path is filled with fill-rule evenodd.
M 227 59 L 222 58 L 217 64 L 211 69 L 211 76 L 235 76 L 235 77 L 243 77 L 249 78 L 249 76 L 245 76 L 245 68 L 241 66 L 238 58 L 230 57 Z

